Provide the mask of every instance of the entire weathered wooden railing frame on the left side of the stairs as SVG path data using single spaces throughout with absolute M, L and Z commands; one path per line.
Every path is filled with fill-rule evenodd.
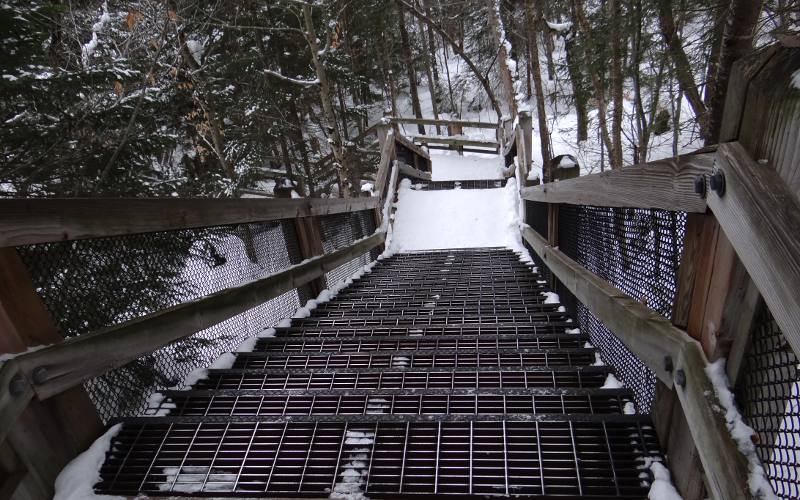
M 0 352 L 17 353 L 0 362 L 0 447 L 7 458 L 0 463 L 2 496 L 51 496 L 60 468 L 99 435 L 100 421 L 81 387 L 86 380 L 320 281 L 382 245 L 398 177 L 392 163 L 404 143 L 387 124 L 377 129 L 377 195 L 368 198 L 0 200 Z M 374 213 L 375 232 L 322 255 L 315 219 L 363 211 Z M 54 326 L 14 248 L 279 220 L 295 222 L 302 262 L 68 339 Z

